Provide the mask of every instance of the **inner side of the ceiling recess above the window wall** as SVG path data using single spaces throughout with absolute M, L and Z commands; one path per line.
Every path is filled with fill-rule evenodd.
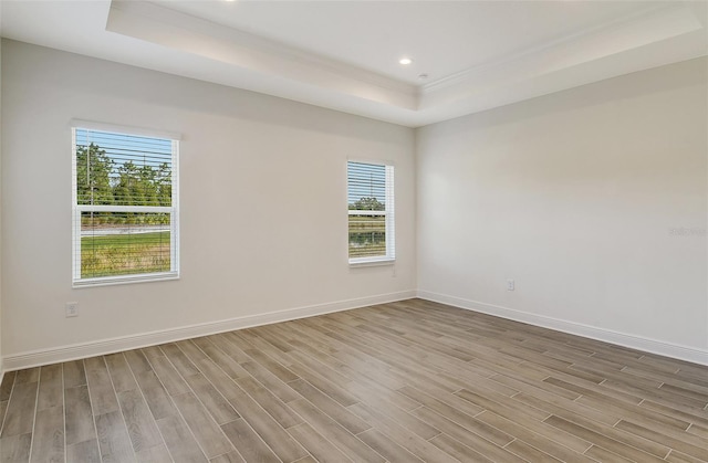
M 408 109 L 417 107 L 416 85 L 152 2 L 113 0 L 106 30 Z

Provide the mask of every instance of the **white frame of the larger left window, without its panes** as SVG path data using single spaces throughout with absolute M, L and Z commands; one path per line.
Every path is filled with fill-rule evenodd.
M 105 131 L 112 134 L 150 137 L 171 141 L 171 206 L 101 206 L 79 204 L 77 166 L 76 166 L 76 130 Z M 72 137 L 72 287 L 95 287 L 116 284 L 146 283 L 156 281 L 179 280 L 179 141 L 178 134 L 152 130 L 139 127 L 121 126 L 88 120 L 71 122 Z M 143 212 L 169 213 L 170 231 L 170 270 L 167 272 L 135 273 L 126 275 L 82 277 L 81 276 L 81 214 L 82 212 Z

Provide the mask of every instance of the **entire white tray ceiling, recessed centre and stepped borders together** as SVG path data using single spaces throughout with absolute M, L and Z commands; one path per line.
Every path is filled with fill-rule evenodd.
M 704 56 L 707 6 L 1 0 L 0 33 L 416 127 Z

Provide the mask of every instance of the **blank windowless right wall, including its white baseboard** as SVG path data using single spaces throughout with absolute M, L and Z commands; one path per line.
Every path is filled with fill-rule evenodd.
M 707 69 L 419 129 L 421 296 L 708 362 Z

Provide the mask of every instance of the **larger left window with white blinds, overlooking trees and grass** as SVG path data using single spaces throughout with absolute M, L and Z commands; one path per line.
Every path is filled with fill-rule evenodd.
M 179 141 L 136 131 L 72 128 L 74 286 L 179 276 Z

